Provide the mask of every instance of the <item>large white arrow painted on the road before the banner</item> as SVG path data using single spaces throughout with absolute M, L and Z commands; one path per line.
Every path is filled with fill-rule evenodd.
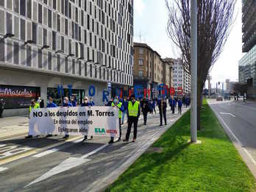
M 99 152 L 100 150 L 104 149 L 108 144 L 105 144 L 103 146 L 100 146 L 97 149 L 94 149 L 92 152 L 83 155 L 82 157 L 69 157 L 68 159 L 64 160 L 62 163 L 60 163 L 58 166 L 55 166 L 54 168 L 51 168 L 50 171 L 43 174 L 41 177 L 38 177 L 38 179 L 35 179 L 33 182 L 30 182 L 28 185 L 26 185 L 24 188 L 26 188 L 29 185 L 35 184 L 36 182 L 43 181 L 45 179 L 48 179 L 51 176 L 54 176 L 55 174 L 60 174 L 64 171 L 68 171 L 71 168 L 81 166 L 83 163 L 87 163 L 90 161 L 89 159 L 86 159 L 90 155 L 95 154 L 96 152 Z

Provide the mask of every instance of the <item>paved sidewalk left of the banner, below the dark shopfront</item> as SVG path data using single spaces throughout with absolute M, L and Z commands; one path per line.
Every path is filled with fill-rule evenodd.
M 0 118 L 0 139 L 26 135 L 29 132 L 29 118 L 15 116 Z

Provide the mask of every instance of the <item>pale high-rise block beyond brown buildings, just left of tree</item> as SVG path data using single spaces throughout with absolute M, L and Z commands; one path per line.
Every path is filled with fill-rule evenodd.
M 182 60 L 174 60 L 174 89 L 178 92 L 178 88 L 182 87 L 183 94 L 191 93 L 191 74 L 188 65 L 185 65 Z

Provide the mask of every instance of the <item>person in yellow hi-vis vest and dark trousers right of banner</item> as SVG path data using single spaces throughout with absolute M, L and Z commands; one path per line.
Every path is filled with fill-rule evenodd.
M 136 101 L 135 95 L 132 94 L 131 101 L 128 104 L 128 128 L 127 128 L 127 135 L 126 135 L 126 138 L 124 139 L 124 142 L 129 141 L 129 134 L 132 129 L 132 124 L 134 126 L 132 142 L 135 142 L 137 138 L 138 118 L 140 117 L 140 115 L 141 115 L 140 102 Z

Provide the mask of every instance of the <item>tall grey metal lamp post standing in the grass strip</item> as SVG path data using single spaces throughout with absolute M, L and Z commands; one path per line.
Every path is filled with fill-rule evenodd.
M 197 142 L 197 0 L 191 0 L 191 142 Z

